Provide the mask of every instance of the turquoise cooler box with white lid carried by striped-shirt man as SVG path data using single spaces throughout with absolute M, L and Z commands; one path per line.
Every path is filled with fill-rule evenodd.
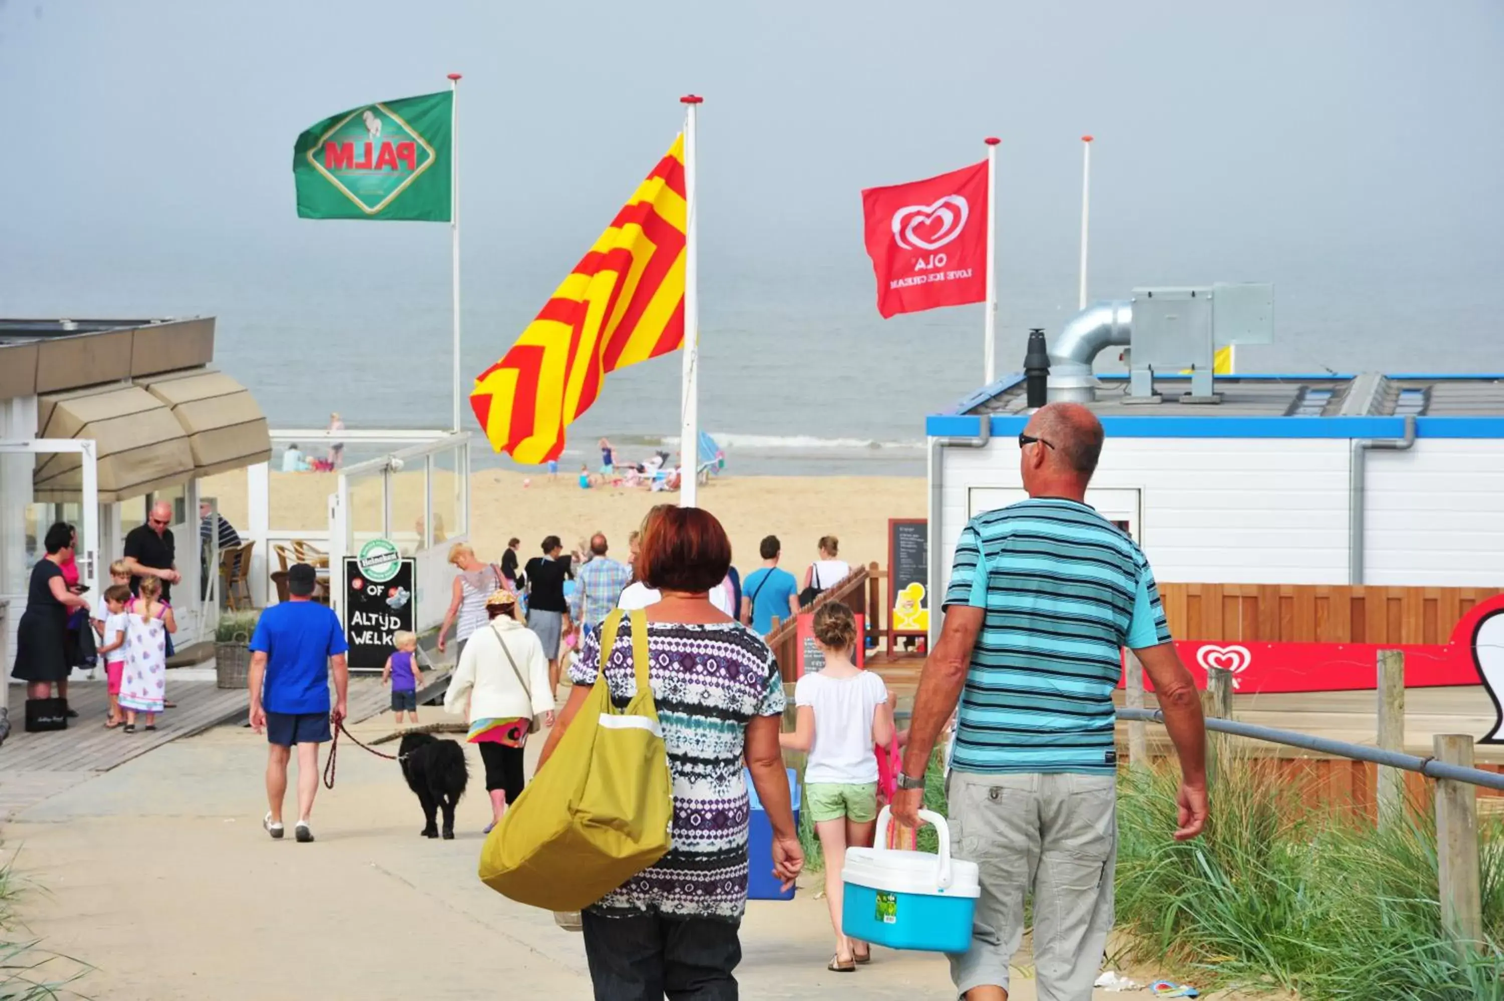
M 887 844 L 889 810 L 877 819 L 874 844 L 847 849 L 841 930 L 887 948 L 964 953 L 972 947 L 972 915 L 982 896 L 976 863 L 951 858 L 945 817 L 920 810 L 935 826 L 940 853 L 902 852 Z

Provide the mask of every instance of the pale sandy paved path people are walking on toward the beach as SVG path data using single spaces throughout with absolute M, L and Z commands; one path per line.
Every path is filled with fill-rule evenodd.
M 385 720 L 355 733 L 387 733 Z M 396 765 L 353 745 L 341 748 L 335 790 L 320 789 L 319 840 L 272 841 L 260 828 L 263 763 L 260 738 L 217 727 L 62 789 L 0 829 L 47 890 L 23 905 L 30 932 L 95 966 L 74 984 L 80 993 L 591 996 L 581 938 L 475 879 L 489 808 L 474 748 L 453 841 L 420 838 Z M 793 903 L 754 903 L 741 941 L 746 998 L 954 996 L 946 963 L 929 954 L 877 950 L 857 974 L 826 972 L 830 929 L 809 888 Z M 1015 981 L 1015 1001 L 1032 987 Z

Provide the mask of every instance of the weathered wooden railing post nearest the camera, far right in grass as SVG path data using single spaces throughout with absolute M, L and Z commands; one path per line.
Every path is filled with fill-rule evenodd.
M 1471 736 L 1438 733 L 1433 745 L 1438 762 L 1472 768 Z M 1477 790 L 1448 778 L 1436 780 L 1436 869 L 1442 927 L 1466 954 L 1474 942 L 1483 941 Z

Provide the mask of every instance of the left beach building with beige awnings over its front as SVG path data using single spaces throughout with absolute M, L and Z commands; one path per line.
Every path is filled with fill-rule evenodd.
M 54 521 L 78 528 L 80 581 L 99 593 L 125 534 L 155 501 L 173 509 L 179 649 L 212 640 L 200 599 L 206 477 L 271 455 L 250 391 L 214 363 L 214 318 L 0 321 L 0 599 L 5 655 Z M 212 570 L 211 570 L 212 572 Z

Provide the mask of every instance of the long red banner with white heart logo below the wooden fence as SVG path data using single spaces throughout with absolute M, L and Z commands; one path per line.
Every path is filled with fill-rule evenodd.
M 1478 602 L 1441 644 L 1184 640 L 1175 649 L 1199 688 L 1206 670 L 1220 667 L 1232 671 L 1239 695 L 1375 689 L 1379 650 L 1403 650 L 1406 688 L 1481 683 L 1504 694 L 1504 595 Z

